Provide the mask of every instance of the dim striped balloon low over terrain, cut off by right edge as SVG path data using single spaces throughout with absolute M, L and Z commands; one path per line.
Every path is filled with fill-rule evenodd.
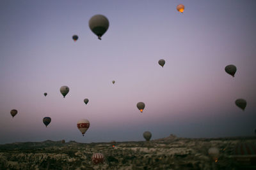
M 256 169 L 256 143 L 239 143 L 232 155 L 240 166 L 253 166 Z

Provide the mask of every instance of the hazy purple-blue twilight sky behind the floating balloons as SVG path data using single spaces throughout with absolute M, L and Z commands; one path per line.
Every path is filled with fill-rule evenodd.
M 255 9 L 254 0 L 1 1 L 0 143 L 255 135 Z M 109 20 L 102 40 L 88 26 L 97 14 Z

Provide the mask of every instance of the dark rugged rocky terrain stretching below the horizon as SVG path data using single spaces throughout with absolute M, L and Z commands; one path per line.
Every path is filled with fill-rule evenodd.
M 255 169 L 234 158 L 234 148 L 247 138 L 167 138 L 152 141 L 76 143 L 43 141 L 0 145 L 0 169 Z M 211 159 L 208 149 L 218 147 L 220 157 Z M 104 164 L 92 164 L 92 154 L 103 153 Z

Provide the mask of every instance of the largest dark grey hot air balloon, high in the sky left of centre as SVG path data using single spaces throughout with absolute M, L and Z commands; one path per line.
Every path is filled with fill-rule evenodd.
M 89 20 L 89 27 L 94 34 L 98 36 L 99 39 L 108 30 L 109 21 L 104 15 L 94 15 Z

